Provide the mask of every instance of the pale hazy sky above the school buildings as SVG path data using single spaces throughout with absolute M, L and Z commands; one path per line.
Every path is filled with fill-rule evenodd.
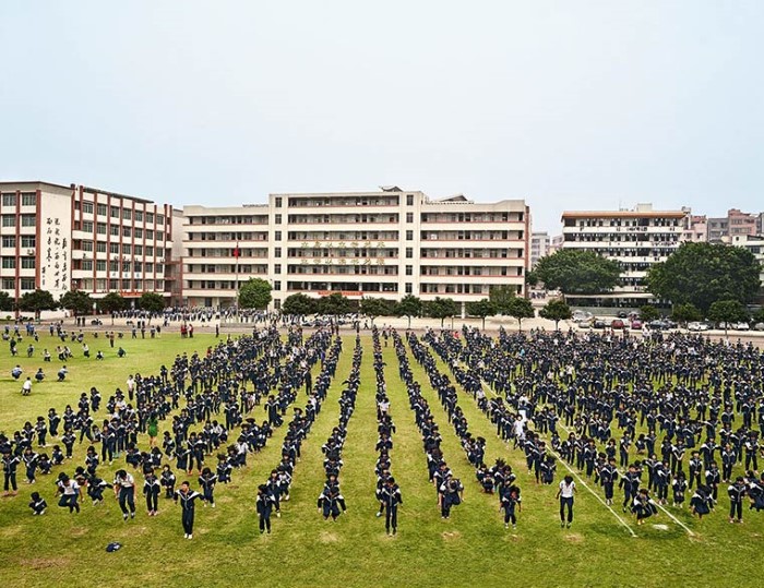
M 764 1 L 0 7 L 0 178 L 764 209 Z

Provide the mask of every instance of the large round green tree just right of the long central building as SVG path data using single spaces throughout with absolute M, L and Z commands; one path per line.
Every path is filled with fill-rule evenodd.
M 621 265 L 593 251 L 561 249 L 541 257 L 526 281 L 542 281 L 549 290 L 566 295 L 597 295 L 613 289 Z

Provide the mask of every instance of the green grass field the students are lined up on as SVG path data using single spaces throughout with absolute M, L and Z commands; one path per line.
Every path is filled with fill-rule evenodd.
M 67 382 L 56 383 L 59 362 L 45 364 L 48 380 L 36 385 L 32 396 L 19 394 L 21 382 L 10 376 L 20 363 L 26 374 L 43 367 L 41 349 L 55 349 L 57 339 L 43 335 L 38 358 L 11 358 L 7 348 L 0 358 L 0 430 L 12 434 L 24 421 L 46 415 L 49 407 L 61 412 L 74 405 L 82 392 L 97 386 L 106 398 L 117 386 L 124 388 L 129 373 L 157 373 L 162 363 L 194 350 L 202 353 L 215 339 L 208 335 L 181 339 L 177 334 L 156 340 L 123 341 L 128 357 L 116 358 L 106 341 L 88 340 L 92 353 L 102 348 L 107 359 L 75 358 L 68 362 Z M 575 523 L 561 530 L 554 487 L 536 485 L 525 469 L 521 452 L 513 452 L 494 434 L 494 429 L 464 395 L 459 405 L 474 435 L 488 440 L 486 463 L 505 458 L 518 475 L 523 511 L 516 531 L 504 530 L 498 499 L 480 492 L 437 395 L 427 376 L 409 360 L 415 376 L 432 407 L 444 437 L 443 452 L 454 473 L 466 487 L 465 502 L 450 520 L 442 520 L 435 492 L 427 480 L 425 453 L 414 412 L 397 375 L 397 359 L 384 348 L 385 376 L 391 415 L 397 427 L 393 437 L 392 470 L 403 496 L 398 535 L 385 536 L 384 520 L 374 516 L 377 421 L 374 371 L 371 340 L 365 337 L 361 386 L 356 411 L 348 424 L 341 477 L 348 512 L 336 523 L 324 521 L 315 500 L 324 475 L 321 445 L 337 422 L 341 382 L 350 370 L 353 338 L 347 337 L 337 374 L 312 432 L 302 445 L 302 458 L 295 469 L 291 501 L 284 503 L 282 518 L 273 518 L 273 535 L 260 536 L 254 513 L 255 489 L 279 459 L 283 429 L 267 447 L 250 456 L 247 469 L 234 472 L 234 483 L 218 485 L 217 508 L 198 507 L 194 540 L 184 541 L 179 507 L 160 499 L 160 513 L 146 516 L 142 496 L 136 496 L 139 515 L 123 523 L 119 507 L 107 492 L 106 503 L 94 507 L 84 502 L 80 515 L 56 506 L 53 476 L 38 476 L 34 487 L 20 484 L 15 497 L 0 500 L 0 578 L 9 586 L 65 586 L 87 581 L 109 586 L 489 586 L 511 583 L 521 586 L 659 586 L 681 583 L 690 586 L 751 584 L 761 568 L 762 515 L 745 511 L 744 525 L 727 523 L 727 500 L 702 523 L 687 512 L 675 512 L 692 531 L 661 513 L 637 528 L 632 517 L 617 513 L 635 530 L 632 537 L 617 517 L 580 484 Z M 71 345 L 71 344 L 70 344 Z M 26 344 L 22 344 L 22 353 Z M 79 353 L 79 346 L 72 346 Z M 441 370 L 445 371 L 443 363 Z M 303 406 L 303 394 L 294 406 Z M 182 403 L 181 403 L 182 404 Z M 103 408 L 102 412 L 103 415 Z M 100 415 L 98 418 L 102 418 Z M 263 409 L 256 409 L 259 420 Z M 97 420 L 98 421 L 98 420 Z M 146 440 L 141 437 L 141 447 Z M 50 445 L 50 442 L 49 442 Z M 64 465 L 73 472 L 83 463 L 86 445 L 75 445 L 74 459 Z M 122 466 L 102 466 L 109 480 Z M 175 465 L 172 464 L 174 469 Z M 59 471 L 56 468 L 53 471 Z M 559 464 L 557 479 L 565 472 Z M 23 480 L 23 468 L 19 470 Z M 196 487 L 195 480 L 192 484 Z M 592 484 L 589 484 L 592 485 Z M 36 490 L 51 505 L 43 517 L 33 517 L 28 495 Z M 599 493 L 599 489 L 596 490 Z M 617 491 L 616 499 L 620 492 Z M 106 544 L 119 541 L 123 549 L 106 553 Z

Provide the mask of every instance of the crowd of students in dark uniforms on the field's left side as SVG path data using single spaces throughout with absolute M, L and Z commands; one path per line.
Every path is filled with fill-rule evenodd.
M 53 469 L 62 469 L 73 457 L 79 432 L 80 442 L 86 439 L 89 445 L 84 464 L 76 466 L 73 475 L 58 472 L 59 506 L 80 512 L 84 495 L 98 506 L 104 501 L 105 489 L 111 487 L 123 518 L 133 518 L 139 485 L 135 478 L 142 476 L 150 516 L 157 514 L 164 488 L 167 497 L 180 503 L 184 536 L 190 539 L 195 503 L 201 501 L 214 507 L 216 485 L 228 483 L 231 472 L 247 465 L 247 455 L 262 449 L 274 429 L 283 424 L 283 416 L 305 385 L 308 406 L 305 411 L 295 409 L 295 418 L 285 434 L 282 464 L 275 470 L 277 483 L 268 481 L 266 485 L 271 503 L 278 505 L 282 495 L 288 500 L 300 442 L 325 398 L 341 350 L 342 340 L 325 331 L 317 331 L 303 343 L 299 329 L 290 331 L 287 340 L 282 341 L 278 331 L 272 328 L 259 332 L 255 337 L 220 343 L 210 348 L 205 357 L 178 356 L 171 370 L 163 365 L 156 375 L 131 375 L 127 396 L 118 388 L 108 398 L 102 425 L 94 422 L 102 404 L 100 393 L 92 388 L 89 397 L 83 393 L 76 410 L 67 406 L 59 416 L 51 409 L 47 422 L 38 417 L 35 425 L 27 422 L 11 439 L 0 435 L 4 491 L 16 493 L 16 469 L 22 463 L 29 484 L 36 482 L 38 472 L 45 476 Z M 322 370 L 313 386 L 310 370 L 319 361 Z M 258 423 L 253 410 L 266 396 L 267 420 Z M 181 398 L 186 403 L 182 408 Z M 178 413 L 172 417 L 171 432 L 165 432 L 160 449 L 157 446 L 158 421 L 167 419 L 172 411 Z M 220 418 L 223 415 L 225 420 Z M 62 428 L 60 437 L 59 427 Z M 139 433 L 147 434 L 147 451 L 139 451 Z M 50 456 L 45 451 L 37 453 L 35 445 L 45 449 L 48 437 L 58 440 L 65 453 L 58 443 L 52 446 Z M 104 480 L 99 466 L 122 456 L 132 469 L 119 469 L 111 483 Z M 207 465 L 215 458 L 216 467 Z M 175 472 L 170 460 L 175 460 Z M 162 473 L 157 476 L 159 470 Z M 191 490 L 188 480 L 176 489 L 178 478 L 181 475 L 190 478 L 194 470 L 201 491 Z M 45 513 L 47 503 L 36 492 L 29 506 L 39 515 Z M 258 509 L 260 512 L 260 507 Z

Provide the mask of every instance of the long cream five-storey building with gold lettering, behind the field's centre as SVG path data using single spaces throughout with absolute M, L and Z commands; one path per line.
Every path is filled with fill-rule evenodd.
M 525 292 L 529 213 L 524 201 L 431 200 L 420 191 L 271 194 L 267 204 L 183 208 L 183 297 L 231 305 L 251 276 L 274 307 L 303 292 L 461 302 L 492 285 Z

